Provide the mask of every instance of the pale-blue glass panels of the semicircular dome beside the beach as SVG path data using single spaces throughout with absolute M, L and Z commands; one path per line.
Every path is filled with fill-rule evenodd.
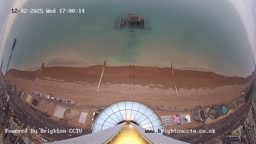
M 110 128 L 124 121 L 132 121 L 155 132 L 164 129 L 161 120 L 151 108 L 139 102 L 122 101 L 111 104 L 96 117 L 92 132 Z

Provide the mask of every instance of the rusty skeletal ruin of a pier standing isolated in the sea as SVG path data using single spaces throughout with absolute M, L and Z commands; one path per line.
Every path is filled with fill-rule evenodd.
M 121 29 L 125 27 L 151 30 L 148 19 L 138 16 L 138 14 L 128 14 L 127 18 L 125 16 L 116 18 L 114 29 Z

